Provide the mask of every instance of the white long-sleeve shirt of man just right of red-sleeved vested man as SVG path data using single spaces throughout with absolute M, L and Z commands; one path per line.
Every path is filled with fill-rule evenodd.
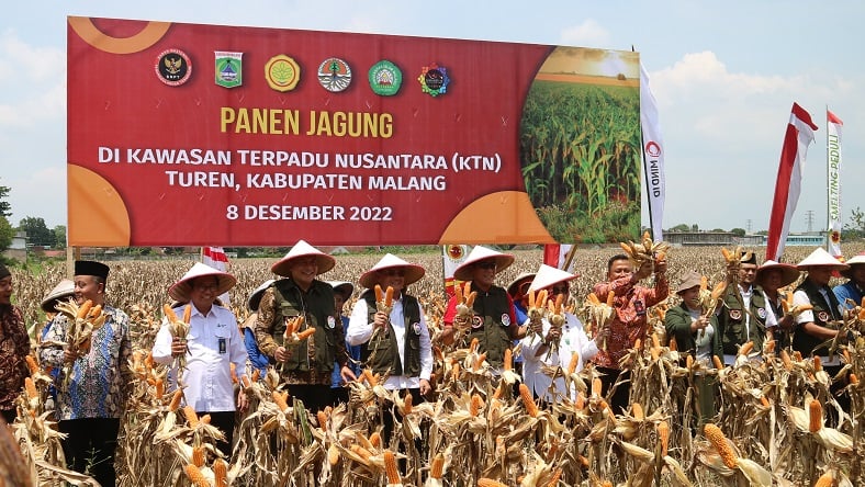
M 538 350 L 543 344 L 543 337 L 547 336 L 551 327 L 547 318 L 543 318 L 543 332 L 541 335 L 535 333 L 523 339 L 523 380 L 529 390 L 550 403 L 555 400 L 555 397 L 550 394 L 552 380 L 549 375 L 541 372 L 541 365 L 561 366 L 564 371 L 568 371 L 571 364 L 571 355 L 576 352 L 576 371 L 581 371 L 585 361 L 591 360 L 598 352 L 595 340 L 588 339 L 580 319 L 570 313 L 565 313 L 564 317 L 562 336 L 557 352 L 551 353 L 548 349 L 538 354 Z M 563 396 L 564 394 L 564 378 L 558 377 L 555 380 L 555 395 Z M 570 398 L 572 400 L 576 398 L 575 388 L 571 390 Z

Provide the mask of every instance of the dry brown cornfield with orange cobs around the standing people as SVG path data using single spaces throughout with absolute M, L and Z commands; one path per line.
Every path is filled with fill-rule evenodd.
M 845 254 L 863 250 L 854 247 L 845 247 Z M 798 261 L 811 249 L 787 250 L 788 260 Z M 541 261 L 540 250 L 514 253 L 516 263 L 498 278 L 503 285 Z M 576 253 L 580 276 L 572 282 L 571 309 L 582 309 L 614 253 L 608 248 Z M 441 257 L 404 257 L 427 269 L 409 292 L 422 301 L 438 346 L 446 305 Z M 379 258 L 338 256 L 336 268 L 322 278 L 356 281 Z M 712 283 L 724 272 L 718 248 L 673 248 L 667 259 L 672 287 L 686 270 Z M 771 347 L 761 360 L 749 360 L 756 359 L 752 353 L 733 366 L 711 369 L 665 343 L 664 307 L 656 306 L 649 312 L 654 337 L 627 358 L 633 385 L 624 411 L 607 405 L 592 366 L 580 373 L 546 371 L 564 376 L 576 399 L 539 407 L 520 394 L 525 387 L 513 384 L 513 374 L 493 374 L 472 348 L 439 346 L 435 398 L 422 404 L 364 373 L 350 385 L 347 405 L 313 415 L 285 396 L 271 371 L 237 385 L 251 405 L 237 418 L 232 457 L 222 458 L 214 446 L 220 431 L 207 417 L 180 408 L 179 396 L 165 389 L 165 367 L 148 360 L 167 288 L 193 262 L 109 263 L 108 301 L 132 317 L 136 349 L 135 393 L 116 457 L 121 486 L 843 486 L 861 478 L 865 389 L 857 377 L 865 367 L 865 313 L 858 310 L 842 324 L 851 340 L 833 343 L 844 365 L 831 377 L 819 363 Z M 238 278 L 232 305 L 239 321 L 248 313 L 246 296 L 272 278 L 272 263 L 232 262 Z M 13 270 L 13 299 L 35 330 L 44 319 L 38 303 L 63 275 L 59 265 L 38 274 Z M 671 297 L 666 306 L 676 304 Z M 12 428 L 26 465 L 35 466 L 38 485 L 88 485 L 88 477 L 63 468 L 59 437 L 45 410 L 49 380 L 35 363 L 32 374 Z M 706 376 L 719 386 L 718 414 L 698 424 L 696 381 Z M 830 393 L 832 383 L 844 386 L 849 410 Z M 390 439 L 382 438 L 383 415 L 394 415 Z M 9 450 L 0 451 L 0 467 L 11 471 Z

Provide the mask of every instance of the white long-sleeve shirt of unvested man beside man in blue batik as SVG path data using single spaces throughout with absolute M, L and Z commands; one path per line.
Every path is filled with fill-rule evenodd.
M 175 308 L 175 313 L 183 316 L 183 307 Z M 231 364 L 235 364 L 235 374 L 241 380 L 246 375 L 247 360 L 237 319 L 231 310 L 222 306 L 213 305 L 206 315 L 202 315 L 193 305 L 189 325 L 187 369 L 181 377 L 186 386 L 186 404 L 200 412 L 235 410 Z M 157 363 L 169 364 L 173 359 L 171 332 L 167 321 L 162 322 L 156 335 L 153 354 Z M 170 388 L 176 388 L 176 370 L 169 373 L 169 381 Z

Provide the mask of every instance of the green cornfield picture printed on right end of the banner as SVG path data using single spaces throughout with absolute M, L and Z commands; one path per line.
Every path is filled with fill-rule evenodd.
M 639 114 L 638 87 L 532 83 L 520 125 L 523 177 L 557 241 L 614 242 L 638 233 Z

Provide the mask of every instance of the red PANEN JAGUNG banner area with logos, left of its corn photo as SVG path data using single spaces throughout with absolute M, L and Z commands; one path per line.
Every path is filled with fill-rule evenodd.
M 554 241 L 519 152 L 554 46 L 68 24 L 72 246 Z

